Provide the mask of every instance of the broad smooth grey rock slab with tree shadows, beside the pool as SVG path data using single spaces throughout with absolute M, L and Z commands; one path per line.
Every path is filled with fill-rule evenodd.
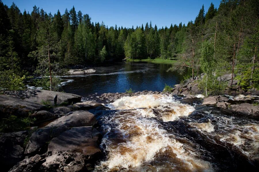
M 24 91 L 5 91 L 9 95 L 13 95 L 17 98 L 23 99 L 24 101 L 30 101 L 35 103 L 50 103 L 54 105 L 54 98 L 57 95 L 57 104 L 62 103 L 71 104 L 81 101 L 81 96 L 70 93 L 62 93 L 49 90 L 37 90 L 37 89 L 28 89 Z

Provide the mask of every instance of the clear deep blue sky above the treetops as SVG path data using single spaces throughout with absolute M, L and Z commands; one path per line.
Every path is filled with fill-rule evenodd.
M 73 5 L 76 11 L 82 11 L 83 14 L 88 13 L 92 21 L 102 22 L 105 25 L 125 26 L 126 28 L 134 28 L 142 23 L 145 26 L 146 22 L 152 21 L 152 25 L 157 24 L 158 28 L 162 26 L 170 26 L 171 23 L 187 24 L 188 21 L 194 20 L 198 15 L 199 10 L 204 4 L 205 13 L 212 2 L 215 7 L 219 7 L 220 0 L 171 0 L 171 1 L 156 1 L 156 0 L 129 0 L 129 1 L 114 1 L 114 0 L 2 0 L 8 7 L 14 2 L 21 12 L 31 12 L 33 6 L 43 8 L 47 13 L 53 15 L 60 10 L 61 14 L 67 8 L 70 10 Z

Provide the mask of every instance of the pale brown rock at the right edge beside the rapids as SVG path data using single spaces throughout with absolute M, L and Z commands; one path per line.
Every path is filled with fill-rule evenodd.
M 259 106 L 250 103 L 230 105 L 230 110 L 248 118 L 259 119 Z

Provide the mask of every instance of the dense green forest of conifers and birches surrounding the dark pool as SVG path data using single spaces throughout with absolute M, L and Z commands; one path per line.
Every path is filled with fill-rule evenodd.
M 14 3 L 7 7 L 0 1 L 0 87 L 19 89 L 24 75 L 51 76 L 69 66 L 125 57 L 173 58 L 177 63 L 170 70 L 194 77 L 208 72 L 201 64 L 204 42 L 213 47 L 211 73 L 238 73 L 244 89 L 258 87 L 258 6 L 257 0 L 222 0 L 206 13 L 202 6 L 186 26 L 158 29 L 151 21 L 145 27 L 108 28 L 74 7 L 63 15 L 36 6 L 21 13 Z

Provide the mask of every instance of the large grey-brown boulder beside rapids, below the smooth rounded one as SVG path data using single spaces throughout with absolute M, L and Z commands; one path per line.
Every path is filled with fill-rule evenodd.
M 92 158 L 101 153 L 98 145 L 99 134 L 92 126 L 73 127 L 53 138 L 49 143 L 48 152 L 80 152 L 81 155 Z

